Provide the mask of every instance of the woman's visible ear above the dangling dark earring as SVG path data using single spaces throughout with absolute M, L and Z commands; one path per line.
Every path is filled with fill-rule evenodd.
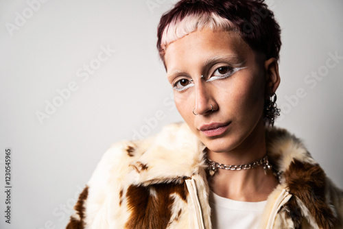
M 276 58 L 265 60 L 265 96 L 275 93 L 280 84 L 279 64 Z

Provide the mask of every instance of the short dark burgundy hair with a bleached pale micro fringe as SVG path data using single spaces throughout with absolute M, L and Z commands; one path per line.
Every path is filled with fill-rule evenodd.
M 158 25 L 157 49 L 163 62 L 169 43 L 204 27 L 236 32 L 265 58 L 279 60 L 280 26 L 264 0 L 181 0 Z

